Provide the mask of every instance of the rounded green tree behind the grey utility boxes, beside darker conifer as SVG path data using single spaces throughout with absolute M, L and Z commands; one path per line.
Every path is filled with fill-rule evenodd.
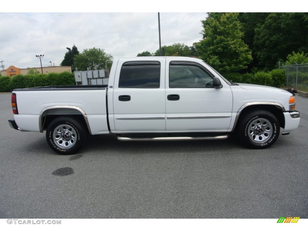
M 85 71 L 87 67 L 91 70 L 104 69 L 105 64 L 107 68 L 111 68 L 112 59 L 112 55 L 105 53 L 104 49 L 93 47 L 84 49 L 79 55 L 75 55 L 74 62 L 79 71 Z

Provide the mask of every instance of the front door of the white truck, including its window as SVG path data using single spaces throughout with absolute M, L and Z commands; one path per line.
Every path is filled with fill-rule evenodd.
M 228 130 L 232 91 L 225 82 L 222 82 L 222 88 L 213 88 L 213 77 L 201 63 L 166 59 L 167 132 Z

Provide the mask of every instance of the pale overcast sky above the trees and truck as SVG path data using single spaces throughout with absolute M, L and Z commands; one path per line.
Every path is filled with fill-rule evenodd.
M 0 61 L 5 68 L 59 65 L 66 47 L 101 48 L 114 58 L 159 49 L 157 13 L 0 13 Z M 161 45 L 202 39 L 206 13 L 160 13 Z

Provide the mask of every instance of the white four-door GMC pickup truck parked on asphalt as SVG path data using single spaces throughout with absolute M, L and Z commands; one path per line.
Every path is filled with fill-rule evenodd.
M 201 59 L 133 57 L 113 61 L 108 85 L 15 89 L 12 128 L 46 131 L 60 154 L 88 135 L 118 140 L 219 140 L 231 132 L 250 148 L 267 148 L 299 124 L 294 95 L 230 83 Z

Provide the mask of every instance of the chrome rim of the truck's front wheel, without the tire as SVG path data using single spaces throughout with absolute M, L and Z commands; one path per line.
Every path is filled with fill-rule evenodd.
M 273 134 L 273 126 L 269 120 L 258 118 L 253 120 L 247 130 L 249 139 L 255 143 L 263 143 L 270 139 Z

